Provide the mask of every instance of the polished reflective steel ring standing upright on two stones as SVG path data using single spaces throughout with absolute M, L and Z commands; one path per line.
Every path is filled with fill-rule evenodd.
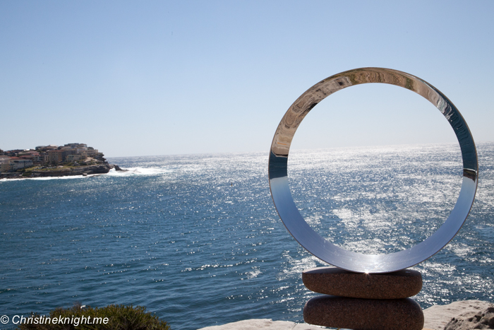
M 414 91 L 429 100 L 450 122 L 462 150 L 463 181 L 457 203 L 445 223 L 423 242 L 391 254 L 360 254 L 325 240 L 299 213 L 288 185 L 287 161 L 291 140 L 303 118 L 328 95 L 362 83 L 389 83 Z M 387 273 L 414 266 L 437 253 L 457 234 L 474 203 L 478 162 L 474 139 L 462 114 L 439 90 L 409 73 L 382 68 L 354 69 L 330 76 L 309 88 L 279 122 L 272 140 L 269 162 L 270 189 L 279 217 L 302 247 L 315 257 L 348 271 Z

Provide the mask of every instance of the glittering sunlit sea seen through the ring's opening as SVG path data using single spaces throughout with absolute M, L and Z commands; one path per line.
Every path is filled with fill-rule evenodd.
M 454 145 L 289 156 L 291 191 L 309 225 L 340 247 L 364 254 L 397 252 L 432 235 L 456 202 L 462 168 Z

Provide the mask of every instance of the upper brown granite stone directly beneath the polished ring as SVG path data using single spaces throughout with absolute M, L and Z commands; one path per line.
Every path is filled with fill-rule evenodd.
M 392 273 L 354 273 L 336 267 L 306 269 L 303 284 L 311 291 L 362 299 L 402 299 L 420 292 L 422 276 L 404 269 Z

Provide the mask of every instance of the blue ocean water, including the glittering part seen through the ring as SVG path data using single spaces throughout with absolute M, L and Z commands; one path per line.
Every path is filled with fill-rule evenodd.
M 478 145 L 476 201 L 459 234 L 414 269 L 423 307 L 494 300 L 494 143 Z M 302 322 L 303 269 L 326 266 L 277 216 L 267 153 L 112 158 L 128 172 L 0 181 L 0 315 L 74 302 L 144 305 L 172 329 Z M 431 235 L 461 185 L 455 145 L 293 151 L 307 222 L 346 249 L 389 253 Z M 11 329 L 6 324 L 2 329 Z

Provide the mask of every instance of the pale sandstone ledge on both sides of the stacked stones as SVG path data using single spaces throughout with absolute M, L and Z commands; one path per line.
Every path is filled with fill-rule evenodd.
M 434 305 L 423 310 L 423 330 L 494 329 L 494 305 L 481 300 L 464 300 Z M 198 330 L 320 330 L 322 326 L 272 319 L 246 319 Z

